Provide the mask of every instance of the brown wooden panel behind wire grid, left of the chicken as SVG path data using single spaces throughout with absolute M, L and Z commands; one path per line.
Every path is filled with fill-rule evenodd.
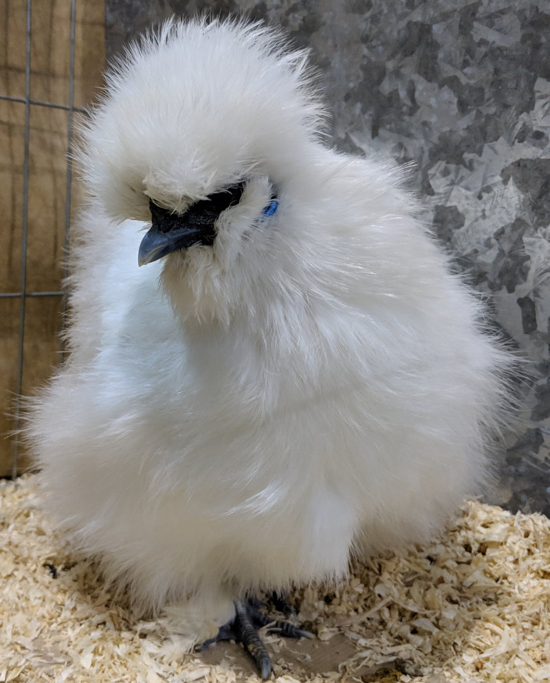
M 78 183 L 74 115 L 100 82 L 104 10 L 89 0 L 8 0 L 0 47 L 0 432 L 21 425 L 21 394 L 63 358 L 61 262 Z M 27 464 L 0 443 L 0 475 Z

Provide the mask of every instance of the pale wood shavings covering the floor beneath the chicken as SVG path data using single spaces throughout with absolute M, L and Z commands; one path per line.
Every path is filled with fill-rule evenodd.
M 241 649 L 185 654 L 170 615 L 135 620 L 39 508 L 39 475 L 0 485 L 0 682 L 259 678 Z M 550 520 L 465 505 L 445 535 L 291 596 L 318 634 L 265 636 L 278 683 L 550 681 Z

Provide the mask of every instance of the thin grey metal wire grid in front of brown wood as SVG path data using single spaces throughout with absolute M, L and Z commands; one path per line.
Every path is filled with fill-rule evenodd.
M 31 75 L 31 27 L 32 27 L 32 0 L 26 3 L 26 39 L 25 39 L 25 97 L 12 97 L 5 93 L 0 93 L 1 100 L 10 102 L 23 102 L 25 104 L 25 122 L 23 126 L 23 210 L 21 215 L 21 291 L 0 293 L 2 298 L 18 298 L 21 302 L 19 306 L 19 333 L 18 333 L 18 355 L 17 355 L 17 380 L 15 387 L 14 404 L 14 431 L 17 434 L 21 423 L 21 392 L 23 389 L 23 367 L 24 344 L 25 341 L 25 306 L 30 297 L 62 297 L 63 326 L 65 324 L 66 311 L 66 292 L 60 291 L 28 291 L 27 290 L 27 234 L 28 234 L 28 204 L 29 204 L 29 157 L 30 157 L 30 107 L 50 107 L 53 109 L 63 109 L 68 113 L 67 122 L 67 175 L 65 190 L 65 251 L 69 244 L 69 225 L 71 221 L 71 188 L 72 188 L 72 143 L 73 143 L 73 123 L 75 111 L 83 112 L 83 109 L 74 107 L 74 45 L 75 45 L 75 26 L 76 26 L 76 0 L 70 0 L 70 27 L 69 27 L 69 99 L 68 104 L 56 104 L 55 102 L 43 102 L 33 100 L 30 96 L 30 75 Z M 63 272 L 63 276 L 67 271 Z M 61 360 L 63 361 L 63 342 L 60 342 Z M 14 439 L 13 458 L 12 458 L 12 478 L 17 477 L 17 464 L 19 456 L 19 440 Z

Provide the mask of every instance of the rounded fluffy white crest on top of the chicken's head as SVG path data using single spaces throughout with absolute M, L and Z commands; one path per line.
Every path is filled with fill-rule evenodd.
M 167 21 L 107 74 L 78 154 L 89 192 L 148 220 L 148 197 L 181 212 L 252 169 L 282 181 L 320 135 L 306 60 L 260 23 Z

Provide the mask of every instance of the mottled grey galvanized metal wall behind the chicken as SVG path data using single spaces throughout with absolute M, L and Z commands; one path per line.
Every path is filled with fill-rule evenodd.
M 171 14 L 244 13 L 309 47 L 352 153 L 412 162 L 426 221 L 531 363 L 491 502 L 550 514 L 548 0 L 107 0 L 107 52 Z

